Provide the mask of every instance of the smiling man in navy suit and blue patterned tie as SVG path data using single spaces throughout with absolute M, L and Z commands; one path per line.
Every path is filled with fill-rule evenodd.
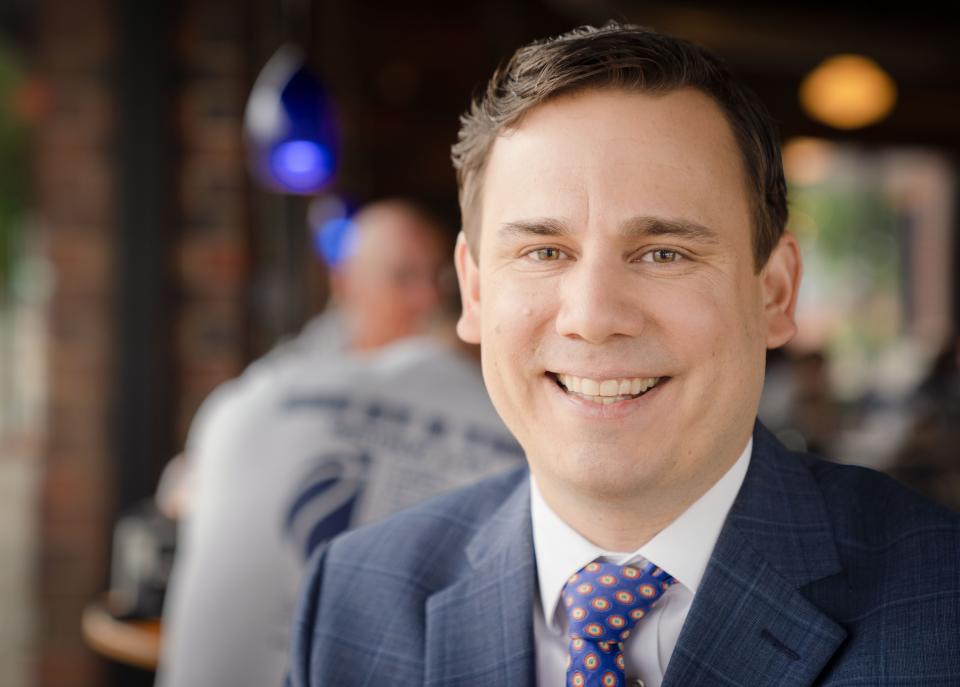
M 755 422 L 794 333 L 773 126 L 646 29 L 519 50 L 454 147 L 461 336 L 525 471 L 333 541 L 290 684 L 960 683 L 960 524 Z

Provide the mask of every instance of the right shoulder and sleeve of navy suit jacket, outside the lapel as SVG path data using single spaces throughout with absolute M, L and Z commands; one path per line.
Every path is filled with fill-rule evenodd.
M 829 684 L 960 684 L 960 516 L 872 470 L 811 472 L 843 572 L 805 593 L 849 635 Z

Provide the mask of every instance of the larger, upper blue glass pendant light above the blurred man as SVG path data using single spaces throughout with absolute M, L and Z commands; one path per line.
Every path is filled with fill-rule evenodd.
M 250 171 L 265 188 L 312 195 L 336 172 L 333 110 L 302 51 L 282 46 L 254 83 L 244 118 Z

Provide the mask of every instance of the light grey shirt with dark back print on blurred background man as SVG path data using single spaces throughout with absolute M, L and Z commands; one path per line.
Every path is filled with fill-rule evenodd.
M 161 684 L 279 685 L 310 550 L 522 454 L 475 361 L 430 337 L 275 362 L 191 437 L 195 489 L 164 617 Z

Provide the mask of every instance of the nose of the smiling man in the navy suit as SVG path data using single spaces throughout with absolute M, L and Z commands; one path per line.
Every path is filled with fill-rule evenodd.
M 561 336 L 603 343 L 643 329 L 630 275 L 619 262 L 581 259 L 562 277 L 556 327 Z

